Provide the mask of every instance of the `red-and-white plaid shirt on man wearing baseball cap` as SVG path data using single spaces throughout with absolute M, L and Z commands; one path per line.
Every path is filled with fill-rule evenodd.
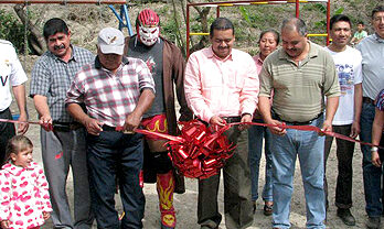
M 121 127 L 146 88 L 154 92 L 154 83 L 147 64 L 138 58 L 122 58 L 113 74 L 98 58 L 85 65 L 75 76 L 65 103 L 85 103 L 87 115 L 104 124 Z

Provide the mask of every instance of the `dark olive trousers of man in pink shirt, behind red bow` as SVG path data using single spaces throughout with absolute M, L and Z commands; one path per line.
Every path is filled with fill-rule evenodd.
M 223 167 L 225 226 L 228 229 L 246 228 L 253 222 L 248 131 L 239 131 L 235 126 L 224 134 L 237 144 Z M 199 181 L 198 222 L 201 226 L 216 228 L 222 220 L 217 207 L 218 184 L 220 174 Z

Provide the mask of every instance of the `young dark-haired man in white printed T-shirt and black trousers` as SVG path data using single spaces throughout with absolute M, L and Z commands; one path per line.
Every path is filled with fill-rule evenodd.
M 351 39 L 351 21 L 346 15 L 338 14 L 330 20 L 332 43 L 326 50 L 332 55 L 339 75 L 341 96 L 339 107 L 332 121 L 337 133 L 356 138 L 360 133 L 360 115 L 362 107 L 362 56 L 355 48 L 348 46 Z M 333 137 L 326 138 L 324 170 Z M 337 139 L 338 182 L 335 188 L 335 206 L 338 216 L 348 226 L 354 226 L 352 207 L 352 157 L 354 142 Z M 326 197 L 328 207 L 328 185 L 324 174 Z

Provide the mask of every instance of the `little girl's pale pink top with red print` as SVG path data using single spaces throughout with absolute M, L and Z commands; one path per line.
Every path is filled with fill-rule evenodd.
M 49 183 L 35 162 L 28 167 L 4 164 L 0 170 L 0 220 L 10 220 L 10 229 L 44 225 L 43 212 L 51 212 Z

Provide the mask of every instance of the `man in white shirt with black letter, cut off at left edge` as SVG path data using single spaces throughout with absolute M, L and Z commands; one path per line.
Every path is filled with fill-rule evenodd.
M 20 121 L 28 120 L 26 103 L 25 103 L 25 87 L 24 83 L 28 77 L 21 66 L 18 55 L 11 42 L 0 40 L 0 119 L 12 119 L 9 106 L 12 102 L 12 92 L 18 102 Z M 28 130 L 28 123 L 18 126 L 18 133 L 24 134 Z M 15 135 L 14 126 L 12 123 L 0 122 L 0 163 L 4 160 L 7 142 Z

